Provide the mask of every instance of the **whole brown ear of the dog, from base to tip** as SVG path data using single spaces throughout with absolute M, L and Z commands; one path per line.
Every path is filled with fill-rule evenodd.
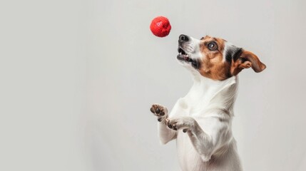
M 243 53 L 241 53 L 239 58 L 236 61 L 232 61 L 230 73 L 235 76 L 243 69 L 250 67 L 252 67 L 256 73 L 259 73 L 266 68 L 265 64 L 262 63 L 254 53 L 243 50 Z

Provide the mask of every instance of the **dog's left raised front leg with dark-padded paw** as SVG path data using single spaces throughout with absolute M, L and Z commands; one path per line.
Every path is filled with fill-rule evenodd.
M 168 118 L 168 110 L 163 105 L 154 104 L 151 107 L 151 112 L 158 117 L 158 135 L 160 143 L 166 144 L 170 140 L 176 138 L 176 131 L 170 130 L 165 125 L 165 120 Z

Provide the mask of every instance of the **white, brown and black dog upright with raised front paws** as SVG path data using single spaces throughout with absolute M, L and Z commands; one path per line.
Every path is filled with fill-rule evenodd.
M 176 140 L 183 171 L 243 170 L 231 129 L 238 73 L 245 68 L 259 73 L 265 64 L 254 53 L 211 36 L 180 35 L 178 53 L 193 86 L 170 113 L 163 105 L 151 106 L 160 142 Z

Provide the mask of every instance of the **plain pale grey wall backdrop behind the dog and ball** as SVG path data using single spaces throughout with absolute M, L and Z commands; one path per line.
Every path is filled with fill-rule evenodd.
M 247 171 L 306 170 L 305 1 L 0 2 L 0 170 L 180 170 L 152 103 L 192 85 L 181 33 L 225 38 L 267 69 L 240 73 L 233 133 Z M 167 16 L 169 36 L 149 30 Z

